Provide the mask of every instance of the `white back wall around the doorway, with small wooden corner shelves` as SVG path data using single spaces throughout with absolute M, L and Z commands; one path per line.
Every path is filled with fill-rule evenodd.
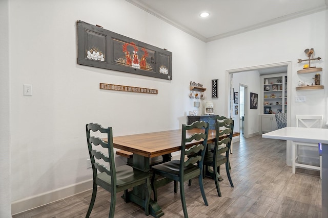
M 253 67 L 259 65 L 292 62 L 291 110 L 292 126 L 295 126 L 295 114 L 326 114 L 327 79 L 321 73 L 323 90 L 296 91 L 300 80 L 297 70 L 302 69 L 304 63 L 297 63 L 297 59 L 305 59 L 304 50 L 314 48 L 320 61 L 315 66 L 323 67 L 326 71 L 327 55 L 327 15 L 326 11 L 299 17 L 269 27 L 246 32 L 243 34 L 223 38 L 207 43 L 208 80 L 219 78 L 219 99 L 213 101 L 217 113 L 227 113 L 221 105 L 225 98 L 226 89 L 224 79 L 226 70 Z M 311 75 L 309 75 L 311 77 Z M 312 75 L 314 76 L 314 75 Z M 209 83 L 208 82 L 208 83 Z M 251 88 L 251 87 L 250 87 Z M 304 95 L 306 102 L 295 103 L 296 95 Z M 324 116 L 324 123 L 326 117 Z

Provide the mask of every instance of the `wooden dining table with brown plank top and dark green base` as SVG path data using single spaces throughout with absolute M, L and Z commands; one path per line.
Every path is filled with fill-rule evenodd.
M 113 137 L 114 148 L 125 150 L 133 153 L 133 167 L 144 172 L 149 172 L 151 169 L 151 158 L 162 156 L 161 162 L 170 161 L 171 153 L 181 150 L 182 130 L 168 130 L 160 132 L 142 133 L 134 135 L 116 136 Z M 200 130 L 204 131 L 204 130 Z M 192 135 L 199 133 L 199 130 L 187 130 L 186 134 Z M 233 136 L 238 136 L 239 132 L 234 132 Z M 222 136 L 226 137 L 226 136 Z M 107 141 L 107 138 L 104 140 Z M 215 141 L 215 130 L 209 130 L 208 143 Z M 191 141 L 186 148 L 190 148 L 199 141 Z M 126 201 L 132 201 L 140 206 L 144 205 L 145 188 L 136 187 L 124 196 Z M 154 217 L 164 215 L 157 202 L 150 202 L 150 214 Z

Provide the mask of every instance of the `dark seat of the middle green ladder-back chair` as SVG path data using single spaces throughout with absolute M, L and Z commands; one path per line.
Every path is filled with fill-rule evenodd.
M 164 174 L 173 174 L 173 175 L 179 175 L 179 170 L 180 170 L 180 160 L 172 160 L 169 162 L 161 163 L 158 165 L 155 165 L 152 167 L 155 171 L 157 171 L 157 174 L 160 175 L 160 173 Z M 193 172 L 195 173 L 195 170 L 199 167 L 197 165 L 189 164 L 188 166 L 185 166 L 184 168 L 184 173 L 185 176 L 188 175 L 188 173 Z M 200 170 L 199 170 L 200 172 Z

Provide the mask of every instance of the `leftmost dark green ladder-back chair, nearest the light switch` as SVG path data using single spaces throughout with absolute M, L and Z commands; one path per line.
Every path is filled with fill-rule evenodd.
M 111 205 L 108 217 L 114 217 L 116 193 L 125 191 L 124 196 L 127 196 L 127 191 L 129 188 L 146 184 L 145 187 L 147 190 L 147 195 L 143 206 L 145 208 L 146 215 L 149 215 L 149 201 L 151 196 L 150 174 L 134 169 L 129 165 L 115 167 L 113 133 L 111 127 L 103 128 L 99 124 L 90 123 L 86 125 L 86 131 L 93 173 L 92 197 L 86 217 L 89 217 L 91 214 L 97 195 L 98 185 L 111 193 Z M 104 137 L 107 137 L 108 142 L 105 142 L 99 137 L 91 136 L 91 133 L 97 131 L 103 133 Z M 99 133 L 95 134 L 99 135 Z M 105 148 L 106 153 L 108 152 L 108 154 L 104 154 L 99 151 L 102 149 L 100 147 Z

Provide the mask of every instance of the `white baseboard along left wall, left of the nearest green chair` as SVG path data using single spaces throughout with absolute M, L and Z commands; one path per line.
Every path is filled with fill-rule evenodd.
M 24 212 L 92 188 L 92 179 L 11 203 L 11 214 Z

